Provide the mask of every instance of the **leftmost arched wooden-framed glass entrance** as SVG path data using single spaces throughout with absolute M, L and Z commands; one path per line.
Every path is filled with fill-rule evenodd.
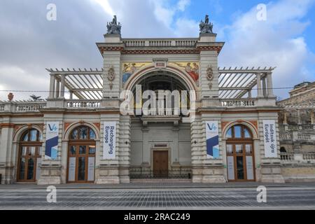
M 22 134 L 18 154 L 18 182 L 35 182 L 40 175 L 41 133 L 29 129 Z

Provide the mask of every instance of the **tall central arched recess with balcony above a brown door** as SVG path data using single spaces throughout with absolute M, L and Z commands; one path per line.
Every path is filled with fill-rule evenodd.
M 189 91 L 195 90 L 186 79 L 172 71 L 154 70 L 136 74 L 130 78 L 132 85 L 127 83 L 127 90 L 134 95 L 139 91 L 136 85 L 141 85 L 141 94 L 150 90 L 156 95 L 148 114 L 136 113 L 131 119 L 131 179 L 190 179 L 190 123 L 182 122 L 188 115 L 178 110 L 184 104 L 190 109 Z M 180 94 L 160 98 L 160 92 L 182 91 L 188 93 L 184 99 Z M 151 99 L 141 99 L 140 107 Z M 139 104 L 135 104 L 136 109 Z

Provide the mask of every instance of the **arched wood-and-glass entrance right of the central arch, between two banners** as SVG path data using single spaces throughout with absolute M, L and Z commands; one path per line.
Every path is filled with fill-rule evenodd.
M 255 181 L 253 134 L 245 125 L 230 127 L 226 153 L 229 181 Z

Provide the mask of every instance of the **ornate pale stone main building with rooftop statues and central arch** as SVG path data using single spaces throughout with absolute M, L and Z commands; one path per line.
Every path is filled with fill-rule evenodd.
M 114 18 L 102 69 L 47 69 L 44 101 L 10 94 L 1 183 L 283 183 L 273 68 L 220 69 L 212 28 L 206 17 L 197 38 L 122 38 Z

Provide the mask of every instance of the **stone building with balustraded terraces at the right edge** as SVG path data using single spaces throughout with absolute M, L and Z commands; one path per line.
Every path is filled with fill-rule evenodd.
M 281 161 L 288 181 L 315 180 L 315 83 L 301 83 L 277 103 Z

